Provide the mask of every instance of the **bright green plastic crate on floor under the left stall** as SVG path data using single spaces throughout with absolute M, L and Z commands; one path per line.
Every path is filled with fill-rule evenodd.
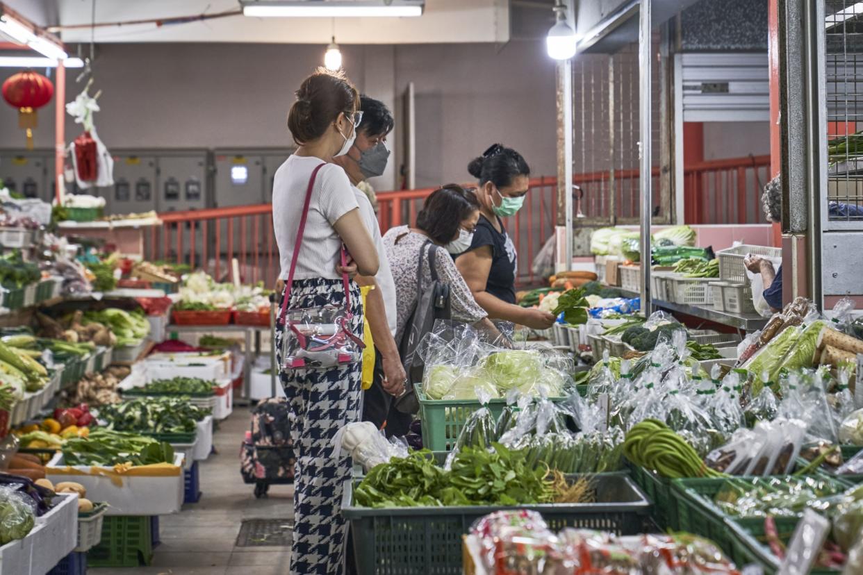
M 90 567 L 136 567 L 153 561 L 150 516 L 105 516 L 102 541 L 87 552 Z

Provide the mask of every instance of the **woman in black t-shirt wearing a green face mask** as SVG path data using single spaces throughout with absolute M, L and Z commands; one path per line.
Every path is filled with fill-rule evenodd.
M 524 203 L 530 167 L 520 153 L 494 144 L 470 162 L 468 172 L 479 179 L 480 219 L 470 247 L 457 255 L 458 271 L 490 319 L 551 328 L 555 316 L 515 304 L 518 254 L 501 221 L 514 216 Z

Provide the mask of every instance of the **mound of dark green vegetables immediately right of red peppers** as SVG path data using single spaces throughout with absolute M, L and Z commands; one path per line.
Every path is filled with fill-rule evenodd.
M 192 405 L 188 397 L 142 397 L 98 409 L 110 429 L 160 434 L 191 433 L 208 415 L 210 409 Z

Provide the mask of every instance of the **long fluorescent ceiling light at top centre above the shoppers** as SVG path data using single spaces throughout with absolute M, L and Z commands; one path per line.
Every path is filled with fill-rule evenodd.
M 339 2 L 337 0 L 298 0 L 295 2 L 243 2 L 243 15 L 287 18 L 374 18 L 422 16 L 422 0 L 382 0 Z

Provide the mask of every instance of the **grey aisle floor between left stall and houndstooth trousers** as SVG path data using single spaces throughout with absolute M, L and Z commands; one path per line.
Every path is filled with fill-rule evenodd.
M 213 437 L 217 453 L 199 464 L 201 496 L 172 516 L 160 517 L 161 545 L 153 565 L 88 569 L 90 575 L 282 575 L 288 547 L 235 547 L 243 519 L 293 517 L 293 485 L 273 485 L 255 499 L 254 485 L 240 477 L 240 444 L 249 429 L 249 408 L 235 407 Z

